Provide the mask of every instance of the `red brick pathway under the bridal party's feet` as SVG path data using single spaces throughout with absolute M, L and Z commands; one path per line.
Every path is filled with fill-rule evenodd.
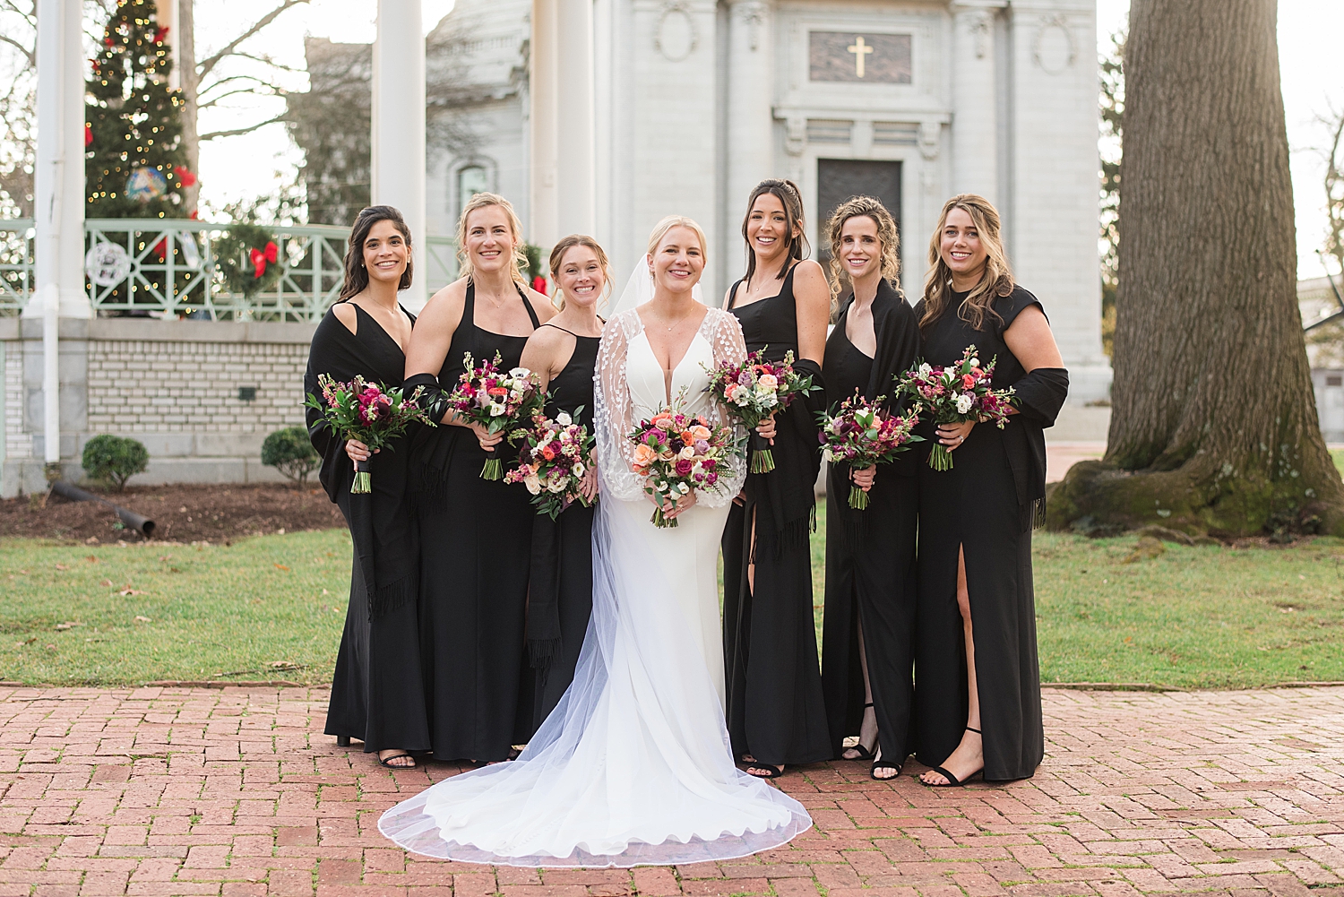
M 810 767 L 781 780 L 817 823 L 789 847 L 633 873 L 394 849 L 379 812 L 453 769 L 336 749 L 325 699 L 0 689 L 0 897 L 1344 897 L 1344 689 L 1047 691 L 1031 781 L 927 791 Z

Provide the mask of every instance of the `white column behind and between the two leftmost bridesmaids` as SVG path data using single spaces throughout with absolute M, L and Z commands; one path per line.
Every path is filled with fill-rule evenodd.
M 374 42 L 372 183 L 375 206 L 395 206 L 411 229 L 425 233 L 425 32 L 421 0 L 378 0 Z M 421 270 L 426 265 L 422 262 Z M 425 304 L 419 277 L 402 296 L 411 311 Z

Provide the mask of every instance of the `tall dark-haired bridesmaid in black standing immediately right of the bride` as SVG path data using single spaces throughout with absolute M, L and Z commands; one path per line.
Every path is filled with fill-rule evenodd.
M 747 273 L 724 299 L 742 324 L 747 351 L 784 360 L 824 387 L 821 359 L 831 292 L 821 265 L 802 261 L 802 195 L 792 180 L 762 180 L 751 191 L 742 238 Z M 829 760 L 817 635 L 812 615 L 818 389 L 757 428 L 773 446 L 775 469 L 749 473 L 745 500 L 723 531 L 723 656 L 728 734 L 746 771 L 774 779 L 785 764 Z

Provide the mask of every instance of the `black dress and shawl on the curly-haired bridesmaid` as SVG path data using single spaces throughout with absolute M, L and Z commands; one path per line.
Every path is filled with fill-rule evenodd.
M 860 352 L 845 336 L 852 296 L 827 340 L 827 399 L 887 397 L 899 409 L 892 375 L 910 370 L 919 355 L 914 309 L 887 281 L 872 301 L 876 358 Z M 832 750 L 839 757 L 847 736 L 863 724 L 864 687 L 859 658 L 859 623 L 872 687 L 882 763 L 900 767 L 914 749 L 911 701 L 914 682 L 915 531 L 918 479 L 915 452 L 878 468 L 867 510 L 849 507 L 849 467 L 832 464 L 827 481 L 827 594 L 821 631 L 821 678 L 831 722 Z

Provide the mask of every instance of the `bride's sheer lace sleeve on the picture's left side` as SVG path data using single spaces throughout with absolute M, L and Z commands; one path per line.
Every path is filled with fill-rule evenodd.
M 626 434 L 634 429 L 630 387 L 625 381 L 625 355 L 630 339 L 640 332 L 638 315 L 621 312 L 602 328 L 593 370 L 593 429 L 597 437 L 597 468 L 602 488 L 614 499 L 634 502 L 644 498 L 644 479 L 634 469 L 634 444 Z

